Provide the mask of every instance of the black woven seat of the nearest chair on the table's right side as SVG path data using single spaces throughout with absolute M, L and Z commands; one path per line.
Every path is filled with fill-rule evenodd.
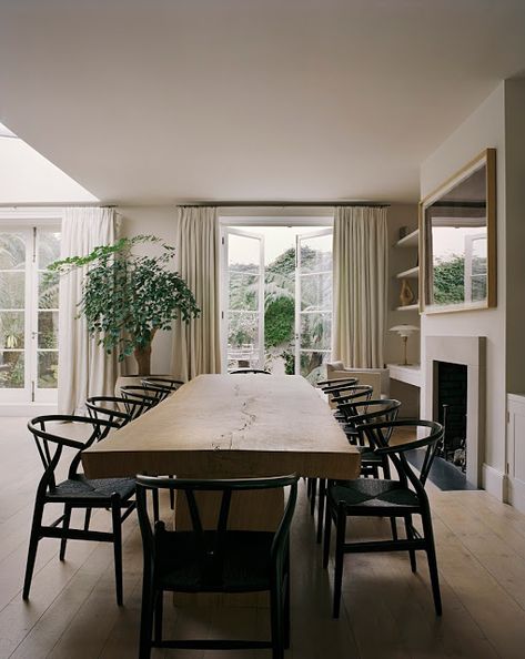
M 388 515 L 394 515 L 396 508 L 400 515 L 405 515 L 420 506 L 420 499 L 412 489 L 403 487 L 397 480 L 377 478 L 337 481 L 329 489 L 329 499 L 335 506 L 342 501 L 349 511 L 357 508 L 360 515 L 364 515 L 366 508 L 385 506 Z

